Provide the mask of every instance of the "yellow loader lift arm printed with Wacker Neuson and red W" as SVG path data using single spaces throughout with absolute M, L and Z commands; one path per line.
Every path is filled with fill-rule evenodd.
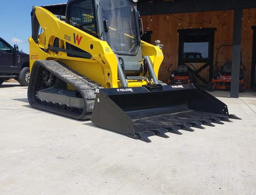
M 51 49 L 49 49 L 49 47 L 51 48 L 51 46 L 53 46 L 53 39 L 59 38 L 59 40 L 65 40 L 67 43 L 75 45 L 83 51 L 88 52 L 92 57 L 90 61 L 97 60 L 102 70 L 104 70 L 104 77 L 106 78 L 104 83 L 110 83 L 110 87 L 118 87 L 117 82 L 113 81 L 114 78 L 117 78 L 117 59 L 107 42 L 101 41 L 96 37 L 91 36 L 90 34 L 71 26 L 70 24 L 64 23 L 43 7 L 34 6 L 31 16 L 33 33 L 32 39 L 29 39 L 29 42 L 34 41 L 35 44 L 39 44 L 41 46 L 41 49 L 43 49 L 43 51 L 48 54 L 47 58 L 56 58 L 56 54 L 51 51 Z M 44 32 L 39 36 L 38 24 L 40 24 L 40 26 L 44 30 Z M 79 41 L 76 41 L 77 37 L 79 37 Z M 40 41 L 40 39 L 44 39 L 44 41 L 42 42 Z M 30 62 L 30 65 L 33 65 L 35 60 L 32 60 Z M 107 74 L 110 72 L 111 75 L 108 76 Z M 95 81 L 97 82 L 97 80 Z M 105 87 L 104 83 L 99 81 L 97 83 Z

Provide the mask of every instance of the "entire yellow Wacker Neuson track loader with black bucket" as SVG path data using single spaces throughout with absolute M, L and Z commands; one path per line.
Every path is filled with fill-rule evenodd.
M 66 16 L 34 6 L 29 104 L 146 142 L 238 118 L 194 84 L 158 81 L 163 53 L 140 40 L 135 1 L 69 0 Z

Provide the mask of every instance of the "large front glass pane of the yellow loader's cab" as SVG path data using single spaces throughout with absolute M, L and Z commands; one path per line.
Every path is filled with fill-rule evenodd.
M 130 0 L 101 1 L 103 23 L 108 23 L 108 30 L 105 30 L 106 25 L 105 29 L 103 28 L 104 37 L 116 54 L 137 54 L 139 45 L 136 42 L 136 21 L 133 9 L 134 6 Z

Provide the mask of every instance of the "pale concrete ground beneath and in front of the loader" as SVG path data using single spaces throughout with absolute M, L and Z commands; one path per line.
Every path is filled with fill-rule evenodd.
M 1 195 L 256 194 L 256 92 L 211 92 L 242 120 L 151 143 L 35 110 L 26 93 L 0 86 Z

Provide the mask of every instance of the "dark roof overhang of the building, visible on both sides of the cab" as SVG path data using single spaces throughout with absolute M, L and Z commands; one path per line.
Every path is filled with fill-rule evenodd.
M 57 15 L 65 15 L 66 3 L 43 6 Z M 256 0 L 138 0 L 140 15 L 206 12 L 255 8 Z

